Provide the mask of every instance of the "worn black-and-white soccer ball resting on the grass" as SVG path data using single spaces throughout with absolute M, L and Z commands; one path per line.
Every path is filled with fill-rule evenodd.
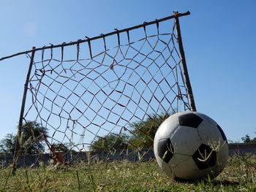
M 227 163 L 227 138 L 208 116 L 178 112 L 159 126 L 154 155 L 162 170 L 175 180 L 213 179 Z

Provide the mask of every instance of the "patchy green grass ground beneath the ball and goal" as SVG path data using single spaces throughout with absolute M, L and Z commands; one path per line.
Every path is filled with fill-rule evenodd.
M 156 161 L 57 165 L 0 171 L 0 191 L 256 191 L 256 156 L 229 158 L 214 180 L 179 183 L 170 180 Z

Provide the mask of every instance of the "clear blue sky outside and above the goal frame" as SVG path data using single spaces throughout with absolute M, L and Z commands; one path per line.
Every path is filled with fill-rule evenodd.
M 255 8 L 254 0 L 1 1 L 0 58 L 189 10 L 180 22 L 197 111 L 238 141 L 256 136 Z M 16 133 L 28 64 L 0 62 L 0 139 Z

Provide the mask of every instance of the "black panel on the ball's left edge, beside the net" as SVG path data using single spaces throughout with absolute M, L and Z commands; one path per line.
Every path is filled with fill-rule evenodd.
M 160 139 L 158 142 L 157 153 L 160 158 L 162 158 L 165 163 L 168 163 L 173 157 L 173 145 L 170 139 Z

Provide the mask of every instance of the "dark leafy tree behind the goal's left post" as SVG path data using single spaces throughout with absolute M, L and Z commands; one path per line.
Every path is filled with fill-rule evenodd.
M 42 127 L 36 121 L 25 123 L 21 129 L 20 154 L 37 154 L 44 151 L 43 139 L 46 134 L 48 134 L 47 128 Z M 17 138 L 17 135 L 7 134 L 0 142 L 0 153 L 13 155 Z

